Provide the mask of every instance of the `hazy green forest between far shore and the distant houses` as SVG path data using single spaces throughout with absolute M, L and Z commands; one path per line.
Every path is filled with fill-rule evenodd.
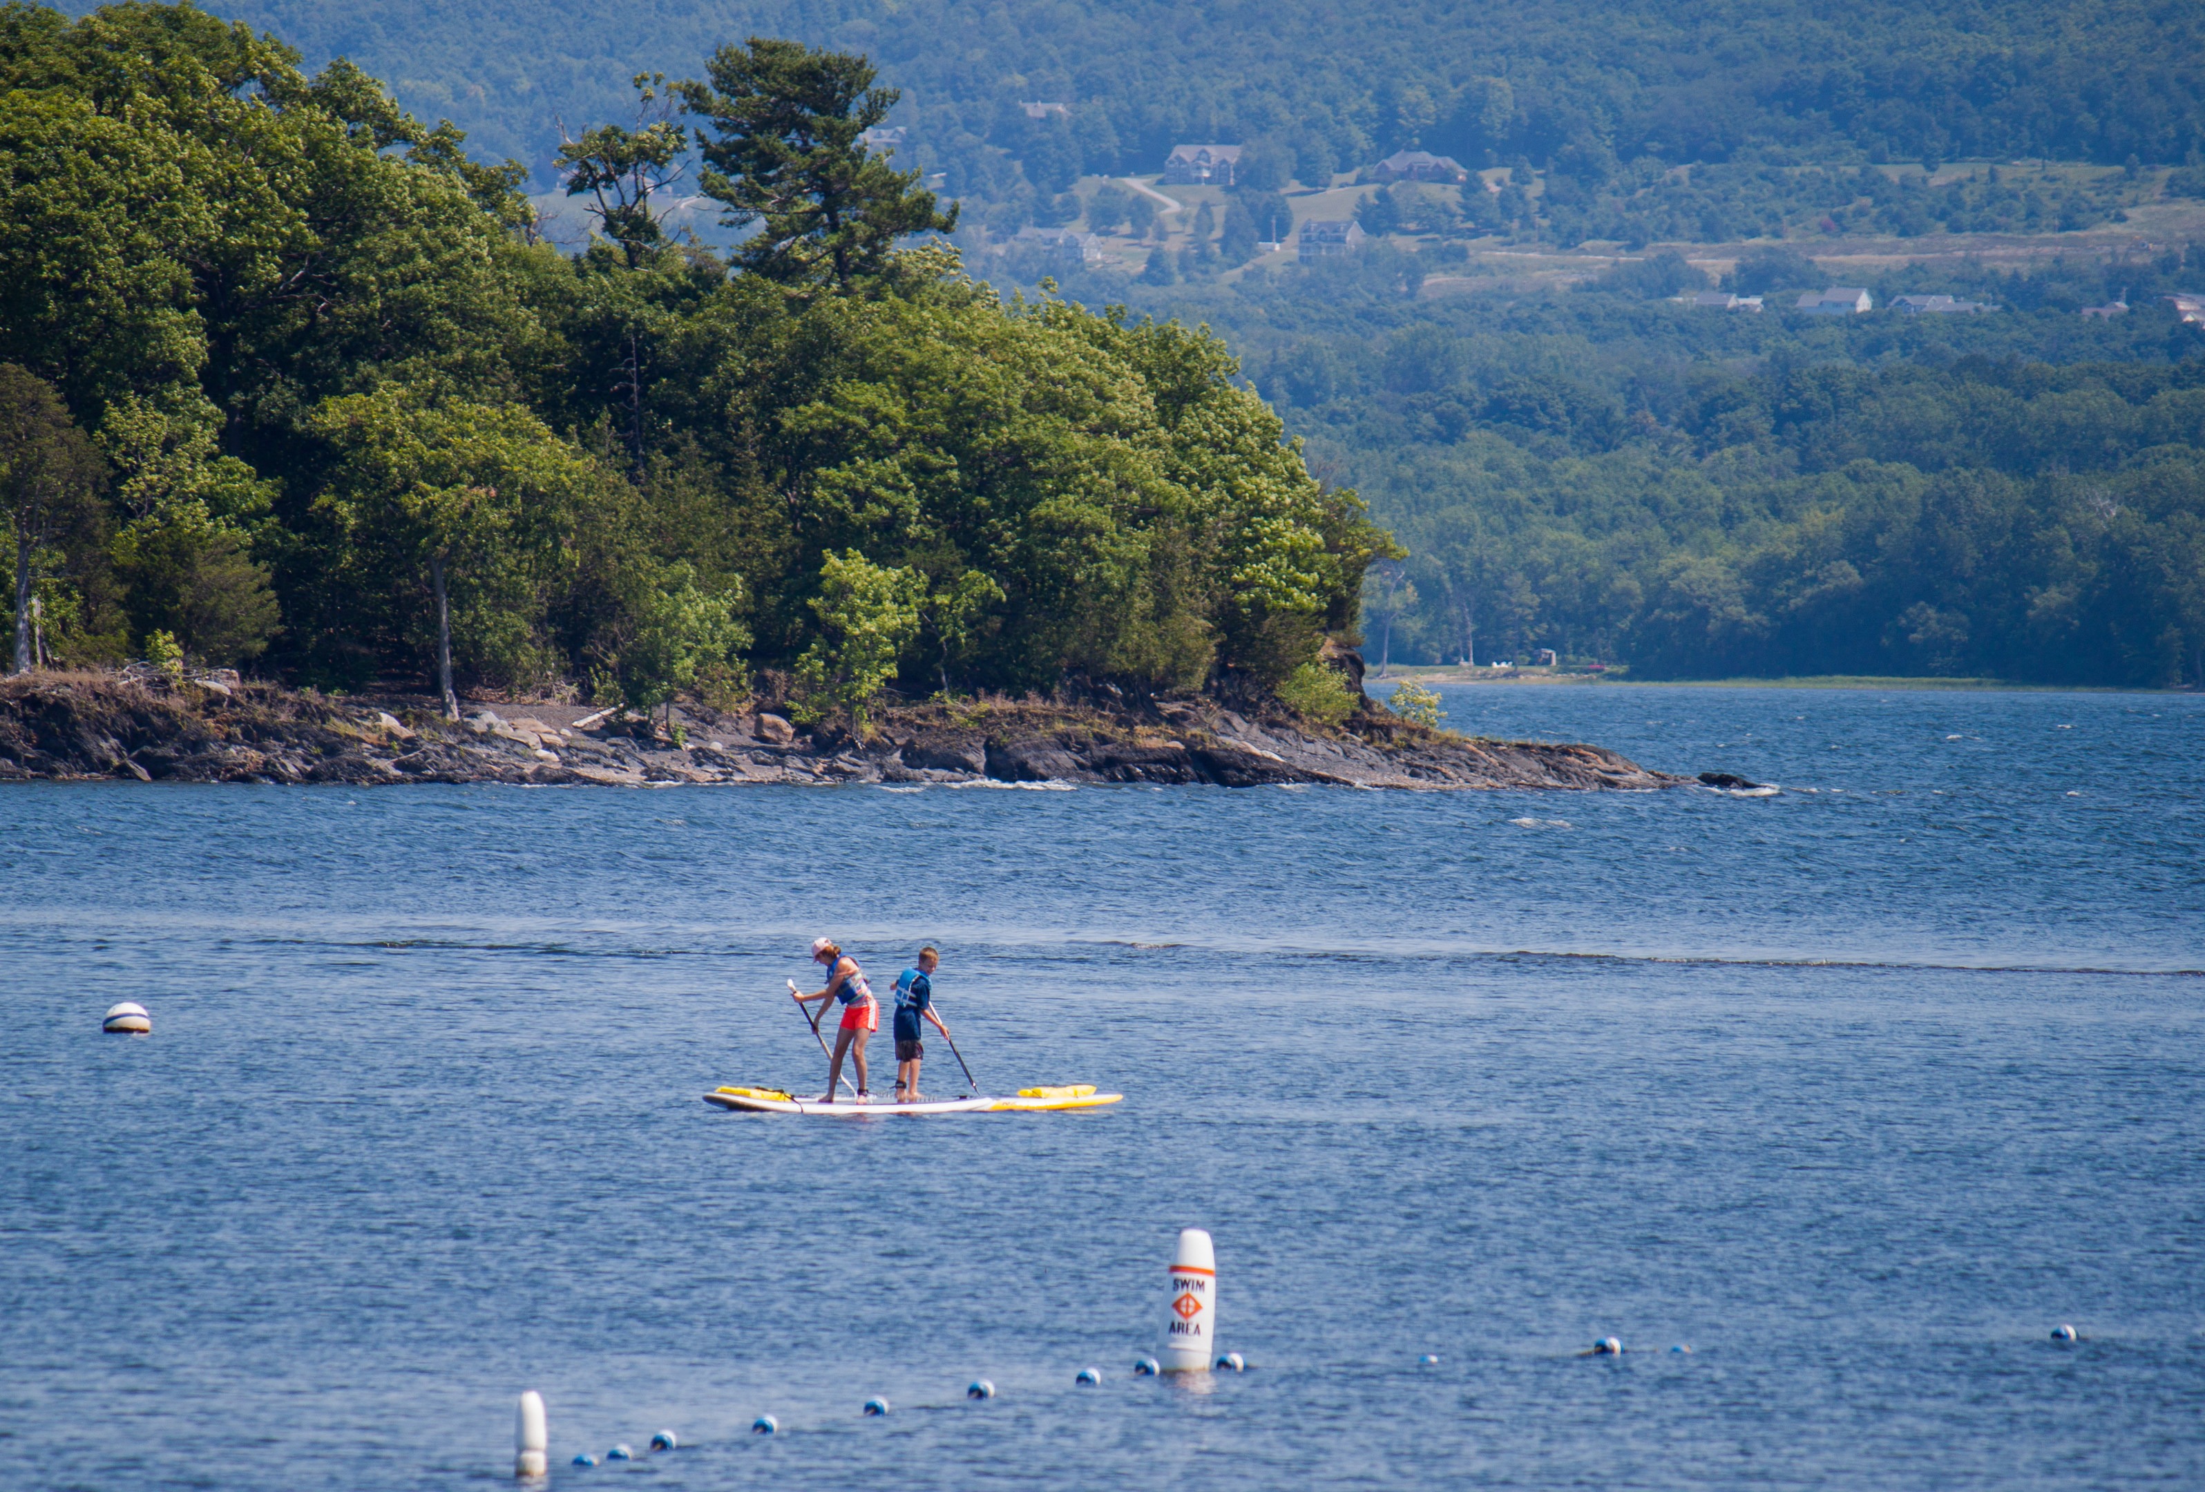
M 1918 320 L 1696 311 L 1658 264 L 1409 300 L 1413 258 L 1096 286 L 1222 328 L 1360 483 L 1411 555 L 1374 659 L 2205 683 L 2205 337 L 2150 300 L 2196 258 L 1874 286 L 2004 306 Z

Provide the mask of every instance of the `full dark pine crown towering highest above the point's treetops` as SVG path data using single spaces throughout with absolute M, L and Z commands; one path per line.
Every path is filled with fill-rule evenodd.
M 864 57 L 752 37 L 721 46 L 710 84 L 675 90 L 708 123 L 699 134 L 703 194 L 723 223 L 759 225 L 734 251 L 752 273 L 792 286 L 831 280 L 849 293 L 889 267 L 897 238 L 948 234 L 957 207 L 935 209 L 919 172 L 895 172 L 860 134 L 895 108 L 895 88 L 873 88 Z

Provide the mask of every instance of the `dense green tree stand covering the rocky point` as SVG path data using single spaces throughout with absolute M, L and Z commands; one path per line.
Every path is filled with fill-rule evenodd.
M 190 4 L 0 9 L 13 657 L 800 710 L 1277 683 L 1389 540 L 1208 333 L 1001 298 L 856 55 L 639 77 L 542 242 L 348 62 Z M 681 172 L 745 236 L 664 231 Z

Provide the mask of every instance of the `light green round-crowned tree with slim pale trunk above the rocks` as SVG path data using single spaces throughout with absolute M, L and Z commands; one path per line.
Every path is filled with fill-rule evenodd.
M 437 692 L 452 688 L 452 591 L 476 621 L 527 630 L 531 571 L 549 566 L 567 509 L 589 480 L 584 458 L 520 406 L 434 399 L 386 386 L 331 399 L 309 430 L 335 454 L 315 507 L 342 533 L 340 569 L 355 584 L 419 582 L 434 602 Z

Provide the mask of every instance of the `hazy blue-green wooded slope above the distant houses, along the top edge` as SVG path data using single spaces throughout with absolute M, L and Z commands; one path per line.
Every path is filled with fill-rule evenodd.
M 88 7 L 75 7 L 88 9 Z M 862 51 L 904 90 L 908 152 L 981 201 L 1158 170 L 1177 141 L 1261 141 L 1310 179 L 1422 145 L 1466 165 L 2059 156 L 2205 148 L 2205 20 L 2150 0 L 243 0 L 309 66 L 348 55 L 423 117 L 538 172 L 558 121 L 624 115 L 637 71 L 719 42 Z M 1063 101 L 1030 119 L 1019 104 Z

